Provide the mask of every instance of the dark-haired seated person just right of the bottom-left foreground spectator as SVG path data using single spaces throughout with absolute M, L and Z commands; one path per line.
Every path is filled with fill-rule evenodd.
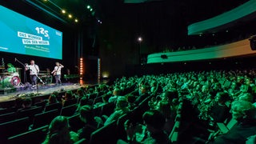
M 94 120 L 91 106 L 86 105 L 81 107 L 80 119 L 85 123 L 85 125 L 82 129 L 78 130 L 79 139 L 85 138 L 86 142 L 89 142 L 90 134 L 98 128 L 98 123 Z

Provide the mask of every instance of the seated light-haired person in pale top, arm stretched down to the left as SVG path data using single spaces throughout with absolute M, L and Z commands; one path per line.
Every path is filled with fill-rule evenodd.
M 110 122 L 117 120 L 123 114 L 126 114 L 129 111 L 128 102 L 125 97 L 118 97 L 118 102 L 116 103 L 116 107 L 113 114 L 110 114 L 109 118 L 106 118 L 106 122 L 104 122 L 104 126 L 108 125 Z

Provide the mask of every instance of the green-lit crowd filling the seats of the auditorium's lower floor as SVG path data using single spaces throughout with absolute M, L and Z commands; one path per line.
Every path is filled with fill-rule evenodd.
M 73 143 L 82 138 L 88 143 L 90 134 L 101 126 L 118 122 L 124 114 L 137 115 L 136 118 L 127 116 L 129 121 L 124 122 L 128 139 L 118 143 L 169 143 L 167 135 L 177 121 L 185 127 L 181 131 L 186 131 L 187 138 L 207 141 L 210 135 L 194 132 L 193 126 L 196 126 L 196 129 L 200 127 L 199 131 L 201 128 L 216 130 L 214 137 L 210 136 L 212 143 L 245 143 L 247 138 L 252 140 L 256 135 L 255 84 L 255 70 L 210 70 L 122 77 L 110 86 L 81 87 L 75 94 L 68 90 L 62 97 L 62 106 L 69 102 L 75 105 L 75 114 L 79 114 L 84 126 L 77 129 L 76 135 L 70 132 L 67 118 L 58 116 L 50 123 L 44 143 Z M 47 105 L 58 102 L 60 94 L 51 94 Z M 74 98 L 78 101 L 73 104 Z M 181 110 L 183 101 L 190 108 Z M 28 97 L 17 98 L 15 102 L 19 110 L 33 107 Z M 108 114 L 102 113 L 105 106 Z M 238 124 L 228 133 L 220 134 L 217 123 L 226 125 L 230 118 Z M 121 130 L 120 127 L 117 130 Z M 188 141 L 192 142 L 193 138 Z

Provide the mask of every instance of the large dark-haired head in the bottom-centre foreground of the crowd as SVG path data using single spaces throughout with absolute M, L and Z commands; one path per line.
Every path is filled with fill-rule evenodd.
M 165 125 L 166 118 L 158 110 L 148 110 L 143 116 L 142 120 L 146 125 L 146 129 L 149 130 L 151 134 L 158 133 L 162 131 L 163 126 Z

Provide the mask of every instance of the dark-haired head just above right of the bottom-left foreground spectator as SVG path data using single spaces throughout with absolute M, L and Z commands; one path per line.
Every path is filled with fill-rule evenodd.
M 79 111 L 80 119 L 82 122 L 91 123 L 94 122 L 94 116 L 92 107 L 89 105 L 82 106 Z

